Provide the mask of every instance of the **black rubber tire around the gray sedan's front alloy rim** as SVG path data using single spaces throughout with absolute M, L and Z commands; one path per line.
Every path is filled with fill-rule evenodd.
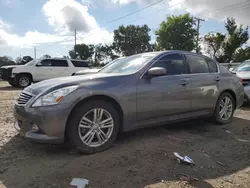
M 94 146 L 90 144 L 86 144 L 86 142 L 82 141 L 81 136 L 86 136 L 88 132 L 90 132 L 90 128 L 79 128 L 80 127 L 80 122 L 82 122 L 82 118 L 85 116 L 88 119 L 92 119 L 90 115 L 93 115 L 94 112 L 91 112 L 93 109 L 102 109 L 103 110 L 103 118 L 106 118 L 106 116 L 109 114 L 112 118 L 113 122 L 113 130 L 112 133 L 110 134 L 107 130 L 110 130 L 109 128 L 104 128 L 101 129 L 103 130 L 104 133 L 107 132 L 110 136 L 108 139 L 106 139 L 105 143 L 102 143 L 99 146 Z M 89 113 L 89 117 L 88 114 Z M 94 117 L 93 117 L 94 119 Z M 92 120 L 93 120 L 92 119 Z M 83 120 L 84 121 L 84 120 Z M 85 121 L 86 122 L 86 121 Z M 103 121 L 101 121 L 103 122 Z M 78 106 L 74 111 L 73 114 L 70 117 L 70 120 L 67 125 L 67 136 L 69 139 L 69 142 L 73 145 L 76 146 L 77 149 L 79 149 L 81 152 L 86 153 L 86 154 L 92 154 L 92 153 L 97 153 L 101 152 L 104 150 L 107 150 L 112 146 L 114 141 L 116 140 L 116 137 L 119 132 L 119 125 L 120 124 L 120 116 L 118 111 L 114 108 L 114 106 L 111 103 L 105 102 L 103 100 L 93 100 L 84 103 L 83 105 Z M 85 124 L 86 125 L 86 124 Z M 87 125 L 89 126 L 89 125 Z M 94 129 L 94 126 L 90 126 Z M 98 125 L 97 125 L 98 127 Z M 100 126 L 99 126 L 100 127 Z M 94 140 L 98 139 L 98 134 L 100 134 L 100 130 L 97 128 L 97 131 L 94 134 L 94 138 L 92 139 L 93 142 Z M 98 133 L 99 131 L 99 133 Z M 105 132 L 106 131 L 106 132 Z M 85 133 L 85 134 L 84 134 Z M 83 137 L 82 137 L 83 138 Z M 100 136 L 99 136 L 100 138 Z M 83 140 L 88 140 L 88 138 L 83 139 Z M 100 142 L 99 142 L 100 143 Z

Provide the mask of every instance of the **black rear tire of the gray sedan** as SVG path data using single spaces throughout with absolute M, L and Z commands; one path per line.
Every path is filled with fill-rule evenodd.
M 222 109 L 222 107 L 221 107 L 220 104 L 221 104 L 222 100 L 225 101 L 225 98 L 230 99 L 231 105 L 232 105 L 232 108 L 231 108 L 231 110 L 232 110 L 232 111 L 231 111 L 231 115 L 228 116 L 228 118 L 225 118 L 225 116 L 224 116 L 224 118 L 223 118 L 223 117 L 221 117 L 221 115 L 220 115 L 220 111 L 221 111 L 221 109 Z M 214 114 L 213 114 L 213 119 L 214 119 L 214 121 L 215 121 L 217 124 L 220 124 L 220 125 L 224 125 L 224 124 L 231 123 L 231 122 L 232 122 L 232 119 L 233 119 L 234 111 L 235 111 L 235 106 L 236 106 L 235 103 L 236 103 L 236 102 L 235 102 L 235 99 L 233 98 L 233 96 L 232 96 L 230 93 L 228 93 L 228 92 L 222 93 L 222 94 L 220 95 L 220 97 L 218 98 L 218 101 L 217 101 L 217 103 L 216 103 L 215 111 L 214 111 Z

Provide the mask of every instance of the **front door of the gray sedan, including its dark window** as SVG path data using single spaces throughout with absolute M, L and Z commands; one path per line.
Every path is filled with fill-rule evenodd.
M 188 66 L 181 54 L 167 54 L 151 67 L 163 67 L 167 74 L 142 76 L 137 85 L 137 117 L 151 123 L 184 117 L 191 109 L 192 91 Z M 150 67 L 150 68 L 151 68 Z

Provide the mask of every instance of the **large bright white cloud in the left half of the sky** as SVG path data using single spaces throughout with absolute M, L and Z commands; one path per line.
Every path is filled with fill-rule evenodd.
M 0 45 L 29 48 L 42 44 L 74 44 L 72 31 L 77 30 L 77 42 L 86 44 L 109 43 L 113 34 L 100 28 L 88 7 L 75 0 L 49 0 L 43 6 L 44 15 L 54 33 L 27 31 L 23 36 L 11 32 L 11 26 L 0 20 Z

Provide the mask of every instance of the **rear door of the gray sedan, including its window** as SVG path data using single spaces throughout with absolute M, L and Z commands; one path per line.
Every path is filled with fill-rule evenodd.
M 186 54 L 185 57 L 190 70 L 192 110 L 197 113 L 210 113 L 219 95 L 218 66 L 203 56 Z

